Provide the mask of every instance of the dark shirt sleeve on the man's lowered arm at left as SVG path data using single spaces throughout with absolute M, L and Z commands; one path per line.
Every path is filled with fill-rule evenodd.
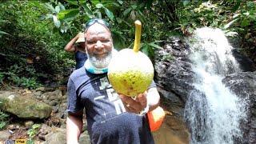
M 72 79 L 69 79 L 67 83 L 67 112 L 69 113 L 78 113 L 83 109 L 81 98 L 76 94 L 74 82 Z

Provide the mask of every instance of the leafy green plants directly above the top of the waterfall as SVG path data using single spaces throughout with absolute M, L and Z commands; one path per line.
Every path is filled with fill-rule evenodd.
M 222 7 L 218 3 L 202 1 L 184 1 L 178 10 L 178 22 L 176 29 L 183 34 L 190 35 L 194 29 L 202 26 L 218 27 L 226 16 L 220 15 Z

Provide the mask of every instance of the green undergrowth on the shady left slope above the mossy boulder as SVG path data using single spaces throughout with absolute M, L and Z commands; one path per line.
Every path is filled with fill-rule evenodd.
M 40 82 L 52 81 L 55 74 L 66 75 L 66 69 L 74 64 L 63 50 L 70 37 L 54 30 L 49 21 L 42 21 L 45 6 L 40 1 L 7 1 L 0 7 L 0 30 L 8 33 L 0 38 L 4 79 L 35 88 Z M 10 74 L 14 65 L 19 70 Z

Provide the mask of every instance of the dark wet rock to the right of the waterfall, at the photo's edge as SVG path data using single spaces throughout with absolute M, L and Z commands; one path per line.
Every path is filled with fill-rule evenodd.
M 230 74 L 222 80 L 234 94 L 247 101 L 247 119 L 241 123 L 242 142 L 256 143 L 256 71 Z

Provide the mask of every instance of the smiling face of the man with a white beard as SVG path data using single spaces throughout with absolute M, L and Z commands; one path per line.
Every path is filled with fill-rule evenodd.
M 113 47 L 110 31 L 96 22 L 86 31 L 85 38 L 86 53 L 93 66 L 97 68 L 108 66 Z

